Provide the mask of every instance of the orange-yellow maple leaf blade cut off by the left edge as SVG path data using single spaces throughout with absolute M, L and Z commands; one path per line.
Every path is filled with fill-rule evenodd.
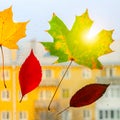
M 0 45 L 17 49 L 16 42 L 25 37 L 27 22 L 13 21 L 12 7 L 0 11 Z

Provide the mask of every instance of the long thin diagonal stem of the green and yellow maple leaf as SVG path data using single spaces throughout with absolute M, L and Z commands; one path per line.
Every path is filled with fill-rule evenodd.
M 49 110 L 49 111 L 50 111 L 51 103 L 52 103 L 52 101 L 53 101 L 53 99 L 54 99 L 54 97 L 55 97 L 55 95 L 56 95 L 56 92 L 57 92 L 59 86 L 61 85 L 61 83 L 62 83 L 62 81 L 63 81 L 63 79 L 64 79 L 64 77 L 65 77 L 65 75 L 66 75 L 66 73 L 67 73 L 67 71 L 68 71 L 68 69 L 69 69 L 69 67 L 71 66 L 72 61 L 73 61 L 73 60 L 71 60 L 70 63 L 69 63 L 69 65 L 67 66 L 67 69 L 66 69 L 66 71 L 64 72 L 64 74 L 63 74 L 63 76 L 62 76 L 62 78 L 61 78 L 61 80 L 60 80 L 60 82 L 59 82 L 59 84 L 58 84 L 58 86 L 57 86 L 57 88 L 56 88 L 56 90 L 55 90 L 55 92 L 54 92 L 51 100 L 50 100 L 50 103 L 49 103 L 49 105 L 48 105 L 48 110 Z

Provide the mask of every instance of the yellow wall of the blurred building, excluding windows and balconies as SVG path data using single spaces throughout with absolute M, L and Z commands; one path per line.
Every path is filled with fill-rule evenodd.
M 44 85 L 41 82 L 41 84 L 38 88 L 36 88 L 32 92 L 25 95 L 25 98 L 23 99 L 23 101 L 21 103 L 19 102 L 20 101 L 20 98 L 19 98 L 20 86 L 19 86 L 19 80 L 18 80 L 20 67 L 5 66 L 5 69 L 10 71 L 10 80 L 6 80 L 7 90 L 10 91 L 10 100 L 2 101 L 0 99 L 0 113 L 2 111 L 10 111 L 11 120 L 15 120 L 14 118 L 16 118 L 16 120 L 19 120 L 19 112 L 25 111 L 28 113 L 28 120 L 34 120 L 38 108 L 42 110 L 42 106 L 44 107 L 44 105 L 46 105 L 46 109 L 43 109 L 43 110 L 47 110 L 47 106 L 50 102 L 50 99 L 51 99 L 52 95 L 54 94 L 57 84 L 62 77 L 61 72 L 62 72 L 62 70 L 66 69 L 66 66 L 61 66 L 61 65 L 42 66 L 43 71 L 48 70 L 48 69 L 52 70 L 52 77 L 51 78 L 43 77 L 42 82 L 43 81 L 46 81 L 46 82 L 54 81 L 54 82 L 56 82 L 56 85 L 54 85 L 54 84 Z M 89 71 L 91 71 L 90 72 L 91 77 L 85 79 L 82 76 L 84 69 L 89 70 L 88 68 L 84 68 L 81 66 L 71 66 L 70 67 L 69 77 L 68 78 L 65 77 L 63 82 L 61 83 L 60 88 L 58 89 L 58 91 L 55 95 L 55 98 L 51 104 L 51 108 L 52 108 L 52 106 L 57 105 L 57 102 L 59 103 L 58 111 L 69 106 L 69 101 L 70 101 L 71 96 L 78 89 L 82 88 L 83 86 L 85 86 L 89 83 L 96 82 L 95 81 L 96 76 L 99 75 L 99 71 L 98 70 L 93 70 L 93 71 L 89 70 Z M 5 88 L 3 86 L 3 81 L 0 80 L 0 95 L 1 95 L 1 91 L 4 89 Z M 63 98 L 63 96 L 62 96 L 63 89 L 69 90 L 69 96 L 67 98 Z M 51 97 L 48 99 L 45 99 L 45 100 L 41 100 L 40 92 L 44 91 L 44 90 L 51 91 Z M 39 107 L 38 106 L 36 107 L 35 106 L 36 104 L 39 105 Z M 82 107 L 82 108 L 70 108 L 70 111 L 72 111 L 73 115 L 76 113 L 79 113 L 79 116 L 76 116 L 76 118 L 73 118 L 73 120 L 82 119 L 83 118 L 82 110 L 84 110 L 84 109 L 91 110 L 92 116 L 95 116 L 95 113 L 94 113 L 95 105 L 94 104 L 89 105 L 87 107 Z M 58 111 L 54 111 L 54 112 L 57 113 Z M 76 113 L 75 113 L 75 111 L 76 111 Z M 94 120 L 94 119 L 92 118 L 92 120 Z

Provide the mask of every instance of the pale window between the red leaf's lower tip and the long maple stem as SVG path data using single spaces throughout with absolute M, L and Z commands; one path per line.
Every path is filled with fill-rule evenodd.
M 40 99 L 46 100 L 52 97 L 52 92 L 50 90 L 41 90 L 40 91 Z

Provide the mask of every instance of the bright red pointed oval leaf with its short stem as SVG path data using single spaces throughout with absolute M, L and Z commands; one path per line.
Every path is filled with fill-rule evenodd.
M 41 78 L 41 65 L 35 57 L 33 50 L 31 50 L 30 55 L 26 58 L 19 71 L 19 83 L 21 87 L 22 98 L 25 94 L 31 92 L 40 84 Z

